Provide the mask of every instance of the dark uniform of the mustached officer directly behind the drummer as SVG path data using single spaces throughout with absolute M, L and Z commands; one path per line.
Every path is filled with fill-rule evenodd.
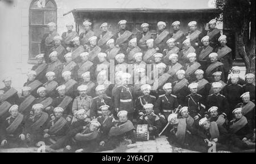
M 139 112 L 145 113 L 145 110 L 143 107 L 144 104 L 155 104 L 155 102 L 156 102 L 155 96 L 152 96 L 152 95 L 139 96 L 135 100 L 135 115 L 138 117 L 138 116 L 141 116 L 141 115 L 139 115 Z

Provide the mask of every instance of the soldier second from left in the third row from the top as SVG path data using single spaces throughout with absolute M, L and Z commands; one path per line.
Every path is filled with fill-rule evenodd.
M 51 63 L 48 64 L 46 72 L 54 72 L 56 77 L 56 82 L 61 82 L 61 72 L 63 70 L 63 64 L 60 62 L 60 60 L 57 58 L 57 52 L 53 51 L 51 54 L 49 54 L 49 58 L 51 60 Z

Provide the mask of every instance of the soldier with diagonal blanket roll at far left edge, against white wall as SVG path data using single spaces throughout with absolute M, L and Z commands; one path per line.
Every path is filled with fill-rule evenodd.
M 17 90 L 15 90 L 13 87 L 11 87 L 11 78 L 7 77 L 3 79 L 3 83 L 5 84 L 5 87 L 3 87 L 0 90 L 4 91 L 2 101 L 7 101 L 10 104 L 18 104 L 19 103 L 19 96 L 17 94 Z

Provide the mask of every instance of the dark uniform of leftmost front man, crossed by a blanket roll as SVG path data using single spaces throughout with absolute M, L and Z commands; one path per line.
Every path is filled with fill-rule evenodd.
M 6 129 L 14 122 L 16 118 L 7 117 L 5 121 L 3 121 L 0 128 L 0 142 L 3 140 L 7 140 L 7 145 L 5 148 L 17 148 L 19 146 L 24 146 L 24 142 L 19 138 L 20 134 L 24 134 L 24 125 L 25 125 L 25 117 L 23 117 L 22 122 L 16 127 L 14 132 L 7 132 Z M 24 134 L 25 135 L 25 134 Z

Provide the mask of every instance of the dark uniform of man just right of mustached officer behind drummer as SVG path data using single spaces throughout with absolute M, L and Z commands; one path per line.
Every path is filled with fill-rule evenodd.
M 177 96 L 175 95 L 160 95 L 155 102 L 154 111 L 156 114 L 162 113 L 164 117 L 167 117 L 174 112 L 175 108 L 179 106 Z

